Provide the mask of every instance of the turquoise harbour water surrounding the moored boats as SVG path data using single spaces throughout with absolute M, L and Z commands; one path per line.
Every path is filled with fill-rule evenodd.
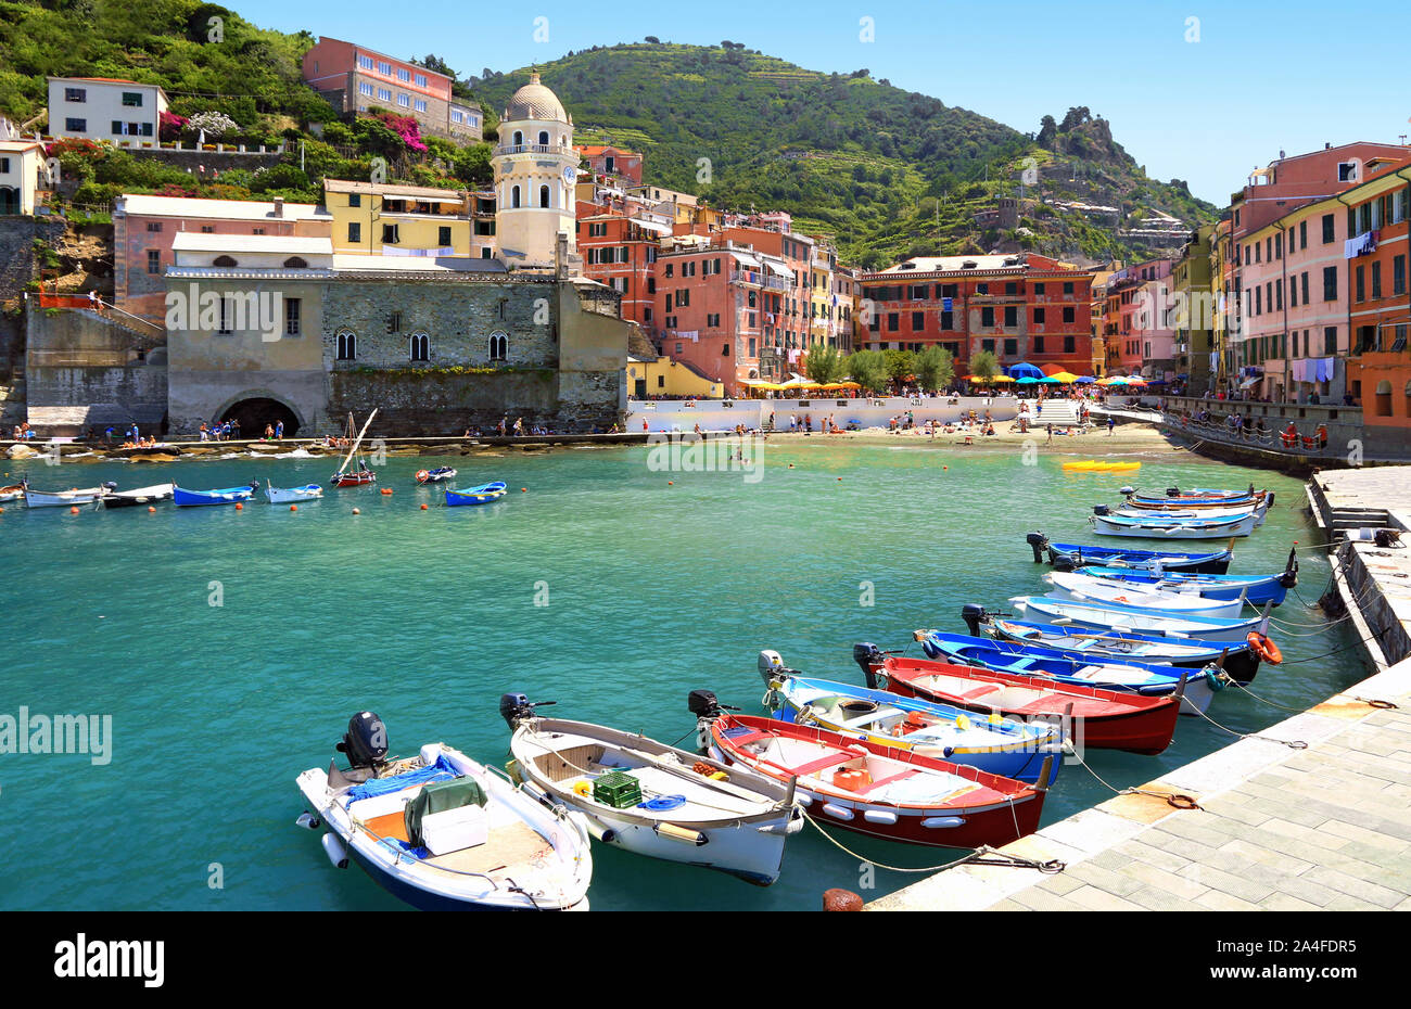
M 0 714 L 111 715 L 113 752 L 106 766 L 87 755 L 0 754 L 0 906 L 399 909 L 360 869 L 333 869 L 317 834 L 293 824 L 295 776 L 327 766 L 358 710 L 382 717 L 395 754 L 439 739 L 504 763 L 497 703 L 507 690 L 557 700 L 559 717 L 670 742 L 694 728 L 693 687 L 759 711 L 761 648 L 855 683 L 855 641 L 902 648 L 913 628 L 964 631 L 964 603 L 993 610 L 1044 591 L 1048 569 L 1031 563 L 1024 533 L 1088 542 L 1091 505 L 1115 502 L 1126 483 L 1276 490 L 1232 572 L 1281 570 L 1292 540 L 1321 539 L 1301 485 L 1285 477 L 1167 457 L 1140 474 L 1065 474 L 1062 459 L 1024 466 L 1017 454 L 958 449 L 772 442 L 751 483 L 652 471 L 646 447 L 562 449 L 449 460 L 461 485 L 509 483 L 511 495 L 485 508 L 440 507 L 412 480 L 428 460 L 395 457 L 380 467 L 392 495 L 329 490 L 298 512 L 262 502 L 80 515 L 6 507 Z M 192 488 L 250 477 L 291 487 L 326 484 L 333 461 L 8 470 L 47 490 L 174 477 Z M 1302 597 L 1312 603 L 1326 583 L 1319 553 L 1302 553 Z M 545 594 L 547 605 L 536 605 Z M 1260 669 L 1256 693 L 1301 710 L 1366 676 L 1353 638 L 1316 627 L 1321 611 L 1291 594 L 1276 615 L 1307 636 L 1276 631 L 1287 660 Z M 1300 662 L 1333 649 L 1343 651 Z M 1287 713 L 1228 691 L 1211 715 L 1249 732 Z M 1230 741 L 1182 718 L 1160 756 L 1099 751 L 1089 761 L 1120 787 Z M 1044 823 L 1109 794 L 1067 766 Z M 886 865 L 952 857 L 837 837 Z M 765 889 L 601 845 L 594 861 L 595 909 L 813 909 L 824 889 L 865 882 L 858 859 L 811 827 L 790 840 L 782 878 Z M 213 864 L 222 889 L 207 885 Z M 879 869 L 864 896 L 916 878 Z

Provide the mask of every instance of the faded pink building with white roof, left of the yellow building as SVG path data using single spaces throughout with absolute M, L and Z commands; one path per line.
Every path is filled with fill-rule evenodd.
M 333 216 L 312 203 L 207 200 L 124 193 L 113 209 L 113 303 L 152 323 L 166 318 L 162 274 L 176 264 L 172 240 L 205 234 L 327 238 Z

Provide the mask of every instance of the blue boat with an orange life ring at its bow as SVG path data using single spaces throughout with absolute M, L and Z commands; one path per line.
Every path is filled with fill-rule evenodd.
M 1024 620 L 1006 620 L 974 604 L 961 607 L 961 617 L 972 638 L 988 634 L 999 641 L 1040 645 L 1075 659 L 1085 658 L 1094 662 L 1136 660 L 1187 669 L 1204 669 L 1223 662 L 1225 672 L 1237 683 L 1253 680 L 1254 673 L 1259 672 L 1260 659 L 1263 659 L 1263 653 L 1256 652 L 1247 638 L 1246 641 L 1199 641 L 1095 627 L 1037 624 Z

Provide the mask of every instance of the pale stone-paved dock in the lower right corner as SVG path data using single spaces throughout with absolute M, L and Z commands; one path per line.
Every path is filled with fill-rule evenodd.
M 1411 467 L 1316 474 L 1338 598 L 1377 672 L 1199 761 L 868 910 L 1411 910 Z M 1401 531 L 1401 545 L 1356 529 Z M 1349 532 L 1352 531 L 1352 532 Z M 1307 748 L 1294 748 L 1301 742 Z M 1181 794 L 1198 809 L 1175 809 Z

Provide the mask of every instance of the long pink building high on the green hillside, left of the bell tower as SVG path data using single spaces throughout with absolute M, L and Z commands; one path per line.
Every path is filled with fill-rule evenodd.
M 387 109 L 415 116 L 422 131 L 457 141 L 481 138 L 481 113 L 452 95 L 454 83 L 405 59 L 319 37 L 303 54 L 303 80 L 346 116 Z

